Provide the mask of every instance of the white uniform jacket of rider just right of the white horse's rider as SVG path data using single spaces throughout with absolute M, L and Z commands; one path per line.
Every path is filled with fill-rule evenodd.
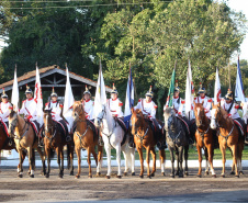
M 134 108 L 139 109 L 144 115 L 148 115 L 150 119 L 156 119 L 156 109 L 158 106 L 154 101 L 147 102 L 146 99 L 139 99 L 137 105 Z

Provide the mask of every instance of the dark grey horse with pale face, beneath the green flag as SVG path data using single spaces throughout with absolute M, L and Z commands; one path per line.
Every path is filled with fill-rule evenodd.
M 188 176 L 188 153 L 189 153 L 189 140 L 185 135 L 185 129 L 183 128 L 181 121 L 176 116 L 174 109 L 168 106 L 164 111 L 165 117 L 165 131 L 166 131 L 166 140 L 170 151 L 171 159 L 171 177 L 179 176 L 183 178 L 183 150 L 184 150 L 184 173 Z M 174 173 L 174 155 L 177 158 L 177 172 Z

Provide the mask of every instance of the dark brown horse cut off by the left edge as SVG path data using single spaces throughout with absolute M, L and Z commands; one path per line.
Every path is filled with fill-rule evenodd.
M 3 124 L 0 123 L 0 151 L 1 150 L 12 150 L 12 149 L 16 150 L 14 139 L 8 137 L 8 135 L 4 131 Z M 26 156 L 26 153 L 23 151 L 22 153 L 22 162 L 24 161 L 25 156 Z M 18 171 L 20 171 L 20 163 L 18 166 Z

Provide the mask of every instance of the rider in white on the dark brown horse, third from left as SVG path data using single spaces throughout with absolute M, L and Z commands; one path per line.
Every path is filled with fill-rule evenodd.
M 45 110 L 52 110 L 52 120 L 59 124 L 59 128 L 67 142 L 70 140 L 68 132 L 70 131 L 68 122 L 61 115 L 63 104 L 58 102 L 58 94 L 54 91 L 50 93 L 50 101 L 45 104 Z

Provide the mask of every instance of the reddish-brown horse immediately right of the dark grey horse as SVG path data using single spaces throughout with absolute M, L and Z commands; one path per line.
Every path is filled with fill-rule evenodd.
M 214 134 L 213 134 L 213 129 L 210 127 L 210 121 L 205 115 L 203 102 L 202 103 L 194 102 L 194 115 L 195 115 L 195 123 L 198 127 L 195 132 L 195 140 L 196 140 L 196 148 L 198 148 L 198 155 L 199 155 L 198 177 L 199 178 L 202 177 L 202 148 L 203 148 L 205 159 L 206 159 L 205 174 L 208 174 L 208 166 L 211 166 L 212 176 L 216 178 L 214 167 L 213 167 Z

